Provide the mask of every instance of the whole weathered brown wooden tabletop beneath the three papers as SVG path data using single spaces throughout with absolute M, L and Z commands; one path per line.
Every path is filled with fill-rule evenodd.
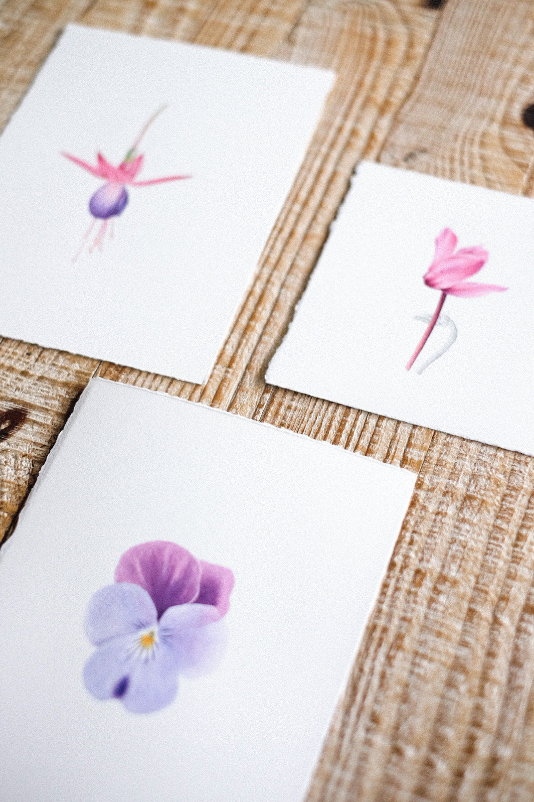
M 338 80 L 204 387 L 0 341 L 2 537 L 93 375 L 417 472 L 307 800 L 534 799 L 534 460 L 263 378 L 358 160 L 534 193 L 521 122 L 534 3 L 0 0 L 0 127 L 72 21 L 317 64 Z

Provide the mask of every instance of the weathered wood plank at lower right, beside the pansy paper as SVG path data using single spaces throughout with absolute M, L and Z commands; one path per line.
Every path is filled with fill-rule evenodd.
M 310 800 L 508 798 L 534 670 L 533 491 L 528 457 L 435 435 Z

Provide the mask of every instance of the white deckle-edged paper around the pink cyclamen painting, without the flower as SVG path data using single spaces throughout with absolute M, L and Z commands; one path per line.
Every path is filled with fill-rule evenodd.
M 447 227 L 489 253 L 467 281 L 508 290 L 447 294 L 448 322 L 407 371 L 439 302 L 423 274 Z M 267 381 L 534 453 L 533 232 L 530 198 L 360 164 Z

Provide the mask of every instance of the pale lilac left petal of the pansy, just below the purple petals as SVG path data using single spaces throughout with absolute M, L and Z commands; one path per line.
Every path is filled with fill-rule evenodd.
M 156 607 L 147 591 L 124 582 L 97 590 L 87 606 L 85 632 L 91 643 L 99 646 L 156 622 Z

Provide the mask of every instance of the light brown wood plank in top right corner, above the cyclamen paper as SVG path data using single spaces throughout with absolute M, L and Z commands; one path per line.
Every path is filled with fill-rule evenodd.
M 532 2 L 449 2 L 440 32 L 379 160 L 532 193 L 534 136 L 521 122 L 534 102 Z

